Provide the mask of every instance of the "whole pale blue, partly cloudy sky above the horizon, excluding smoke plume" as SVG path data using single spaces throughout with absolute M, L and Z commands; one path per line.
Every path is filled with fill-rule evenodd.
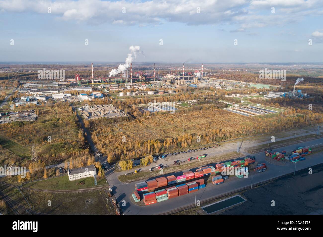
M 124 62 L 131 45 L 136 62 L 323 62 L 323 1 L 0 0 L 0 62 Z

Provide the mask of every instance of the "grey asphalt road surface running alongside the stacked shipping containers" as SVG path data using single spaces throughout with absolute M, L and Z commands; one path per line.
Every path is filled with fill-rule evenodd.
M 309 142 L 298 143 L 297 145 L 289 145 L 281 147 L 280 149 L 276 149 L 276 151 L 281 152 L 282 150 L 291 151 L 295 150 L 297 146 L 311 146 L 313 150 L 315 146 L 323 145 L 323 138 L 319 138 L 316 140 L 312 140 Z M 279 177 L 281 175 L 292 173 L 294 170 L 301 170 L 307 167 L 314 166 L 319 163 L 323 163 L 322 153 L 311 154 L 306 157 L 305 161 L 300 161 L 295 163 L 291 163 L 287 160 L 275 161 L 270 158 L 266 158 L 264 153 L 258 155 L 251 154 L 256 157 L 257 163 L 265 162 L 267 165 L 267 170 L 263 173 L 255 173 L 251 171 L 248 178 L 238 179 L 237 177 L 230 177 L 229 180 L 226 180 L 223 184 L 213 185 L 212 183 L 208 183 L 206 188 L 199 190 L 196 192 L 196 200 L 205 201 L 211 197 L 222 196 L 228 192 L 234 192 L 235 190 L 241 189 L 243 187 L 248 187 L 251 185 L 251 181 L 253 185 L 257 183 L 264 182 L 266 180 L 273 179 L 275 177 Z M 196 167 L 197 168 L 197 167 Z M 194 169 L 196 169 L 194 168 Z M 190 169 L 190 170 L 194 170 Z M 185 170 L 186 171 L 186 170 Z M 176 174 L 176 173 L 175 173 Z M 181 206 L 187 206 L 189 204 L 193 204 L 195 202 L 195 194 L 187 194 L 181 197 L 177 197 L 174 199 L 170 199 L 164 202 L 152 204 L 149 206 L 138 206 L 131 202 L 130 198 L 131 194 L 135 190 L 135 183 L 121 183 L 115 175 L 108 175 L 107 180 L 110 185 L 114 186 L 113 193 L 117 198 L 118 202 L 126 201 L 126 206 L 122 207 L 123 212 L 132 215 L 138 214 L 158 214 L 167 211 L 171 211 Z M 270 205 L 270 203 L 268 203 Z

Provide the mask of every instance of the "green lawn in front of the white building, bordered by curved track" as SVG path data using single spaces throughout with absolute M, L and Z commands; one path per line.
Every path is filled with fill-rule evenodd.
M 84 183 L 84 184 L 80 184 Z M 98 185 L 104 185 L 103 179 L 97 179 Z M 42 181 L 26 183 L 24 187 L 47 190 L 78 190 L 82 188 L 94 187 L 94 178 L 87 177 L 75 181 L 69 181 L 68 175 L 57 178 L 45 179 Z

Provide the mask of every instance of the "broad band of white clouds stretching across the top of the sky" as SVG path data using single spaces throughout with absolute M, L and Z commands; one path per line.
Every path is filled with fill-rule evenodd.
M 276 13 L 271 14 L 271 6 Z M 248 28 L 284 25 L 305 15 L 323 14 L 321 0 L 0 0 L 0 12 L 51 14 L 66 21 L 124 25 L 235 25 Z M 197 12 L 200 9 L 200 13 Z M 122 10 L 125 9 L 125 13 Z M 263 10 L 267 9 L 267 11 Z M 297 13 L 297 17 L 295 14 Z

